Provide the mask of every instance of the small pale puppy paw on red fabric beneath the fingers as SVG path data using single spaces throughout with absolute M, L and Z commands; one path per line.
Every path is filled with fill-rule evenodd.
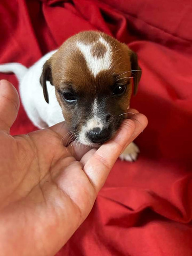
M 125 148 L 119 158 L 121 160 L 133 162 L 137 159 L 139 152 L 139 147 L 134 142 L 132 142 L 131 144 L 129 144 L 129 146 Z

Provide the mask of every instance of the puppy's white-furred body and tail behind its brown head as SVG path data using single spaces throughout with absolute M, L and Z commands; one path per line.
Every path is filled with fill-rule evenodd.
M 27 69 L 19 63 L 0 65 L 0 72 L 13 72 L 19 79 L 20 98 L 24 109 L 35 126 L 42 129 L 64 120 L 60 105 L 55 96 L 55 88 L 47 82 L 49 104 L 45 101 L 39 78 L 42 66 L 52 54 L 49 52 Z

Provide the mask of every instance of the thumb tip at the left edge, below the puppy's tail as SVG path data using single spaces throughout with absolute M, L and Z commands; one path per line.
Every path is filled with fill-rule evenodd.
M 0 81 L 0 130 L 9 133 L 19 109 L 17 90 L 7 80 Z

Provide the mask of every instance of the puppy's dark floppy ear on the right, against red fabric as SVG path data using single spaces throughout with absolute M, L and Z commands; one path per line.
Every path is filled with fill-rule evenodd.
M 134 93 L 134 95 L 136 95 L 137 89 L 138 89 L 138 84 L 141 79 L 142 71 L 138 65 L 137 54 L 133 51 L 131 51 L 130 61 L 131 61 L 131 69 L 132 69 L 133 84 L 134 84 L 133 93 Z

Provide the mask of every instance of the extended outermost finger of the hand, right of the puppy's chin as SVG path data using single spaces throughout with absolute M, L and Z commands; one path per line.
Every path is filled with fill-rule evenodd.
M 128 119 L 123 121 L 116 136 L 101 145 L 84 165 L 84 172 L 89 177 L 97 193 L 103 186 L 123 148 L 131 143 L 146 127 L 147 118 L 142 114 L 136 115 L 136 120 Z M 83 162 L 86 162 L 86 157 L 89 158 L 89 155 L 83 157 Z

